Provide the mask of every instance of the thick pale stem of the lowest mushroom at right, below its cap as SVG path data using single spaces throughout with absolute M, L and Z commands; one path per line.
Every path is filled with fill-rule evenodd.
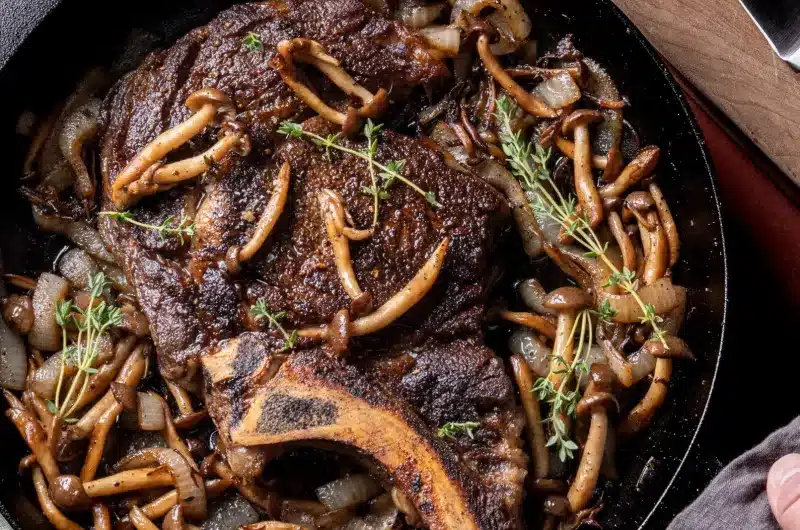
M 575 481 L 569 488 L 567 499 L 572 513 L 577 513 L 589 504 L 597 479 L 600 476 L 600 466 L 603 463 L 606 438 L 608 436 L 608 414 L 603 407 L 592 410 L 592 420 L 589 425 L 589 435 L 583 446 L 581 463 Z

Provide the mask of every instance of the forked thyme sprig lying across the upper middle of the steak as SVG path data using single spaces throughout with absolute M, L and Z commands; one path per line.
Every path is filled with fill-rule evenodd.
M 375 130 L 375 125 L 370 125 L 370 121 L 367 121 L 367 125 L 365 126 L 364 134 L 367 136 L 367 128 L 371 128 L 370 136 L 377 139 L 378 130 Z M 432 191 L 425 191 L 419 186 L 417 186 L 411 179 L 407 178 L 403 175 L 405 171 L 406 161 L 405 160 L 394 160 L 388 162 L 386 164 L 382 164 L 375 160 L 375 153 L 377 153 L 377 143 L 375 143 L 375 151 L 372 150 L 372 144 L 370 143 L 366 150 L 358 151 L 356 149 L 350 149 L 349 147 L 345 147 L 339 143 L 340 135 L 332 134 L 328 135 L 327 137 L 322 137 L 318 134 L 308 132 L 303 129 L 303 126 L 299 123 L 295 123 L 292 121 L 284 121 L 281 123 L 281 126 L 278 128 L 278 132 L 281 134 L 285 134 L 286 136 L 293 136 L 295 138 L 308 138 L 313 141 L 315 144 L 324 147 L 326 154 L 330 154 L 331 149 L 335 149 L 337 151 L 341 151 L 343 153 L 347 153 L 349 155 L 356 156 L 362 160 L 365 160 L 370 166 L 374 166 L 374 169 L 378 170 L 378 176 L 383 179 L 383 182 L 380 186 L 380 189 L 383 191 L 387 191 L 389 187 L 394 183 L 395 180 L 399 180 L 409 188 L 413 189 L 415 192 L 419 193 L 428 203 L 433 206 L 434 208 L 441 208 L 441 204 L 436 200 L 436 194 Z M 368 141 L 370 136 L 367 136 Z M 371 171 L 373 168 L 371 168 Z M 373 179 L 373 182 L 374 179 Z M 378 198 L 386 198 L 388 195 L 380 193 L 380 189 L 375 187 L 375 195 Z M 372 190 L 370 190 L 370 195 L 373 195 Z

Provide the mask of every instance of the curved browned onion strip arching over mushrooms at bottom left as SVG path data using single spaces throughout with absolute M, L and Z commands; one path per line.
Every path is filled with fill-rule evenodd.
M 160 403 L 158 407 L 161 408 Z M 117 464 L 117 469 L 125 471 L 152 466 L 156 463 L 166 466 L 172 478 L 175 479 L 175 489 L 178 490 L 178 503 L 183 507 L 184 515 L 190 519 L 205 519 L 207 505 L 206 488 L 203 479 L 200 475 L 192 472 L 189 463 L 177 451 L 160 448 L 143 449 L 120 460 Z

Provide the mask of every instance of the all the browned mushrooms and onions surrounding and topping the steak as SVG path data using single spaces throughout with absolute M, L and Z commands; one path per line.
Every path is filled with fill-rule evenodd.
M 628 131 L 628 136 L 634 137 L 635 152 L 625 162 L 626 102 L 613 81 L 569 46 L 536 61 L 535 42 L 528 39 L 530 20 L 518 0 L 401 0 L 397 6 L 384 0 L 368 3 L 391 11 L 436 54 L 452 60 L 458 80 L 474 78 L 472 72 L 479 72 L 474 90 L 450 94 L 422 112 L 419 124 L 425 140 L 441 151 L 451 167 L 479 175 L 504 193 L 525 252 L 531 258 L 547 255 L 564 277 L 577 285 L 554 285 L 554 290 L 547 292 L 539 281 L 526 280 L 519 285 L 526 310 L 498 308 L 491 314 L 518 326 L 509 342 L 510 368 L 525 412 L 533 461 L 529 494 L 542 499 L 547 528 L 574 526 L 596 513 L 599 506 L 592 501 L 600 477 L 615 476 L 616 439 L 629 437 L 651 423 L 666 399 L 673 360 L 692 358 L 688 346 L 677 337 L 686 292 L 671 281 L 680 240 L 664 194 L 652 178 L 659 149 L 639 146 L 635 132 Z M 504 66 L 504 62 L 513 66 Z M 345 110 L 329 106 L 300 81 L 296 75 L 300 64 L 319 70 L 361 106 Z M 357 134 L 364 120 L 379 119 L 387 111 L 386 89 L 375 94 L 366 90 L 313 40 L 281 42 L 270 67 L 299 99 L 341 126 L 345 135 Z M 7 355 L 0 369 L 0 385 L 9 403 L 6 415 L 31 453 L 20 462 L 20 470 L 32 473 L 45 516 L 59 530 L 81 528 L 70 518 L 73 513 L 84 519 L 90 513 L 98 530 L 120 525 L 150 530 L 157 528 L 154 521 L 159 519 L 165 530 L 192 529 L 208 517 L 212 499 L 235 490 L 270 519 L 259 521 L 261 514 L 253 512 L 252 517 L 239 521 L 253 530 L 388 530 L 400 524 L 399 512 L 407 514 L 413 524 L 413 505 L 399 491 L 381 494 L 381 488 L 367 475 L 351 475 L 320 488 L 319 502 L 279 501 L 252 469 L 222 460 L 218 452 L 192 437 L 207 412 L 198 406 L 195 396 L 151 373 L 155 363 L 147 319 L 97 229 L 82 220 L 96 193 L 95 168 L 87 165 L 84 147 L 98 132 L 100 100 L 95 95 L 107 84 L 97 73 L 86 78 L 60 113 L 44 121 L 24 168 L 24 193 L 34 205 L 37 224 L 63 234 L 75 248 L 60 257 L 57 275 L 43 273 L 36 279 L 6 275 L 21 294 L 2 293 L 0 342 Z M 496 114 L 496 102 L 503 95 L 519 107 L 512 124 L 515 131 L 560 153 L 553 168 L 556 185 L 577 198 L 576 215 L 583 216 L 599 240 L 608 244 L 610 259 L 620 270 L 631 271 L 629 281 L 636 286 L 638 301 L 633 293 L 609 283 L 609 268 L 596 256 L 588 257 L 563 224 L 536 216 L 531 208 L 535 191 L 523 187 L 508 170 Z M 148 144 L 114 181 L 112 200 L 118 209 L 202 176 L 229 153 L 249 152 L 246 127 L 237 121 L 235 106 L 227 95 L 202 89 L 189 96 L 186 106 L 191 116 Z M 219 130 L 217 142 L 208 150 L 178 162 L 163 162 L 170 152 L 208 128 Z M 598 128 L 605 138 L 602 150 L 593 143 Z M 275 179 L 272 196 L 250 240 L 229 249 L 225 261 L 231 273 L 238 272 L 241 263 L 251 259 L 267 240 L 286 204 L 290 178 L 287 163 Z M 62 192 L 70 187 L 73 200 L 64 201 Z M 335 190 L 324 190 L 318 201 L 325 237 L 330 240 L 352 308 L 337 314 L 326 326 L 298 330 L 298 334 L 328 341 L 336 351 L 344 352 L 350 337 L 385 328 L 425 296 L 442 268 L 449 240 L 439 243 L 404 288 L 373 308 L 369 293 L 358 285 L 349 249 L 351 241 L 371 237 L 372 230 L 353 226 Z M 119 307 L 122 316 L 117 326 L 98 339 L 91 373 L 81 375 L 62 362 L 62 329 L 54 315 L 64 299 L 85 308 L 90 298 L 86 278 L 98 273 L 110 283 L 103 294 L 105 302 Z M 596 311 L 600 307 L 613 316 L 599 318 Z M 642 322 L 643 307 L 655 312 L 666 332 L 663 340 L 653 338 L 653 330 Z M 355 317 L 352 321 L 350 315 Z M 594 339 L 576 351 L 574 330 L 580 318 L 592 328 Z M 577 372 L 559 364 L 572 366 L 576 355 L 583 355 L 589 369 L 584 379 L 578 378 L 580 397 L 574 416 L 561 416 L 566 435 L 579 447 L 577 466 L 573 466 L 557 458 L 548 443 L 553 436 L 552 420 L 546 421 L 551 405 L 540 401 L 534 387 L 537 381 L 546 380 L 558 388 L 565 378 L 577 378 Z M 70 409 L 81 412 L 74 421 L 50 405 L 60 392 L 57 381 L 59 372 L 64 371 L 67 383 L 81 376 L 88 388 L 70 404 Z M 147 388 L 162 385 L 174 407 L 158 392 L 138 389 L 142 382 Z M 634 399 L 632 407 L 621 406 L 621 392 L 630 401 L 632 392 L 642 386 L 646 390 Z M 161 444 L 109 461 L 107 446 L 121 425 L 132 432 L 158 433 Z M 352 508 L 365 503 L 368 515 L 354 525 Z

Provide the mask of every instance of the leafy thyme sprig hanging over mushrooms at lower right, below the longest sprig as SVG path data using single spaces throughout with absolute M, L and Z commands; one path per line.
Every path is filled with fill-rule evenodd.
M 554 373 L 563 374 L 558 388 L 549 378 L 540 377 L 532 389 L 532 392 L 538 394 L 539 401 L 544 401 L 550 405 L 549 415 L 542 420 L 542 423 L 550 423 L 553 426 L 553 435 L 545 445 L 546 447 L 554 447 L 558 453 L 558 458 L 562 462 L 575 458 L 575 451 L 578 449 L 578 444 L 569 437 L 564 417 L 574 418 L 577 415 L 578 402 L 581 400 L 581 381 L 584 376 L 589 374 L 589 364 L 586 359 L 594 343 L 591 312 L 589 310 L 578 313 L 570 334 L 573 340 L 579 324 L 580 334 L 578 336 L 578 344 L 573 350 L 575 356 L 572 362 L 566 361 L 563 351 L 553 352 L 554 364 L 561 366 L 558 370 L 554 370 Z

